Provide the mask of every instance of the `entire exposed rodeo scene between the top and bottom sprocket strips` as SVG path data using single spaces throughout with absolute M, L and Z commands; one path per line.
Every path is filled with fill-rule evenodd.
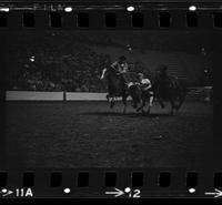
M 212 55 L 204 37 L 14 37 L 7 53 L 8 166 L 204 166 L 213 132 Z

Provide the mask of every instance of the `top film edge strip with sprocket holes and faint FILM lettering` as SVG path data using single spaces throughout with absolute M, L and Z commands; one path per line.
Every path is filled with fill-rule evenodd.
M 3 19 L 1 30 L 11 29 L 220 29 L 221 28 L 221 6 L 219 3 L 148 3 L 134 6 L 133 11 L 127 9 L 131 4 L 108 6 L 65 6 L 65 4 L 28 4 L 28 6 L 6 6 L 0 4 L 0 12 Z M 194 7 L 194 10 L 190 9 Z M 65 8 L 71 11 L 65 12 Z M 212 12 L 214 11 L 214 12 Z M 88 18 L 88 24 L 79 23 L 81 14 Z M 105 25 L 105 14 L 111 14 L 114 25 Z M 29 24 L 28 18 L 32 18 L 33 24 Z M 84 19 L 84 17 L 83 17 Z M 95 21 L 97 19 L 97 21 Z M 133 19 L 142 20 L 143 24 L 133 24 Z M 53 20 L 56 23 L 53 24 Z M 189 22 L 190 21 L 190 22 Z M 196 21 L 196 22 L 195 22 Z M 23 25 L 27 22 L 27 25 Z M 193 23 L 194 22 L 194 23 Z M 219 22 L 219 23 L 216 23 Z M 33 27 L 32 27 L 33 25 Z

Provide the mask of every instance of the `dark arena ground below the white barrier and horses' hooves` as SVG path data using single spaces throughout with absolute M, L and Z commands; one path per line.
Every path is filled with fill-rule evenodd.
M 185 102 L 170 115 L 107 102 L 7 102 L 9 167 L 196 167 L 211 160 L 213 104 Z

